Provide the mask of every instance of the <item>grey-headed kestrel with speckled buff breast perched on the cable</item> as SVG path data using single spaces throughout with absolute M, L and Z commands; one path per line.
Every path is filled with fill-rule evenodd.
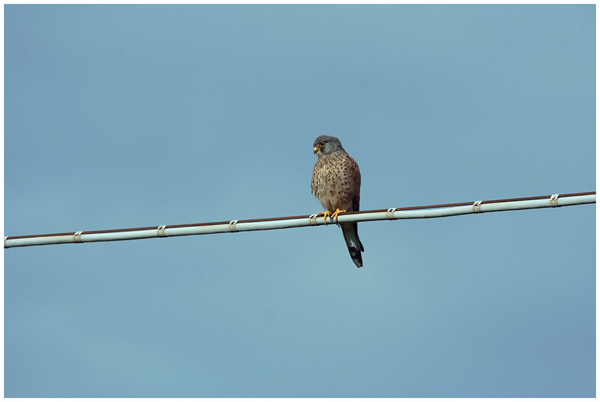
M 313 152 L 317 154 L 314 164 L 313 180 L 310 188 L 314 197 L 325 208 L 323 219 L 327 217 L 337 222 L 338 214 L 358 211 L 361 203 L 361 171 L 356 161 L 341 146 L 340 140 L 330 135 L 321 135 L 314 140 Z M 358 238 L 356 222 L 338 223 L 346 240 L 352 261 L 356 267 L 362 267 L 361 251 L 364 251 Z

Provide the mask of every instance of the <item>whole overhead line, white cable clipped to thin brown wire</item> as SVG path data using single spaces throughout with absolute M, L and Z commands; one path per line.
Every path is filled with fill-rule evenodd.
M 506 198 L 503 200 L 458 202 L 455 204 L 421 205 L 418 207 L 388 208 L 382 210 L 341 213 L 338 222 L 364 222 L 368 220 L 422 219 L 471 213 L 510 211 L 532 208 L 563 207 L 592 204 L 596 192 L 542 195 L 539 197 Z M 188 223 L 186 225 L 146 226 L 143 228 L 79 231 L 68 233 L 9 236 L 4 238 L 4 248 L 38 246 L 41 244 L 87 243 L 89 241 L 134 240 L 152 237 L 173 237 L 224 232 L 300 228 L 331 224 L 317 214 L 269 217 L 263 219 L 230 220 L 224 222 Z

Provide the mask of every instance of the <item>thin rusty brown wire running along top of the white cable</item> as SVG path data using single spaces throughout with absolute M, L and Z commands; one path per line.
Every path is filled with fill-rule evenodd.
M 560 194 L 559 198 L 565 197 L 575 197 L 578 195 L 593 195 L 596 194 L 595 191 L 584 192 L 584 193 L 571 193 L 571 194 Z M 481 204 L 494 204 L 496 202 L 512 202 L 512 201 L 528 201 L 528 200 L 544 200 L 544 198 L 550 198 L 550 195 L 540 195 L 538 197 L 522 197 L 522 198 L 505 198 L 503 200 L 490 200 L 490 201 L 482 201 Z M 418 207 L 400 207 L 396 208 L 397 211 L 409 211 L 409 210 L 419 210 L 419 209 L 431 209 L 431 208 L 449 208 L 449 207 L 463 207 L 465 205 L 473 205 L 473 202 L 456 202 L 454 204 L 437 204 L 437 205 L 420 205 Z M 373 212 L 386 212 L 387 209 L 377 209 L 377 210 L 368 210 L 368 211 L 357 211 L 357 212 L 348 212 L 341 213 L 341 215 L 346 214 L 364 214 L 364 213 L 373 213 Z M 269 222 L 271 220 L 288 220 L 288 219 L 304 219 L 308 217 L 308 215 L 298 215 L 298 216 L 282 216 L 282 217 L 267 217 L 262 219 L 240 219 L 238 223 L 251 223 L 251 222 Z M 212 226 L 212 225 L 228 225 L 229 220 L 223 222 L 205 222 L 205 223 L 187 223 L 185 225 L 167 225 L 166 229 L 169 228 L 190 228 L 193 226 Z M 107 230 L 93 230 L 93 231 L 85 231 L 82 234 L 93 234 L 93 233 L 115 233 L 115 232 L 131 232 L 138 230 L 154 230 L 157 229 L 157 226 L 145 226 L 143 228 L 127 228 L 127 229 L 107 229 Z M 35 234 L 35 235 L 26 235 L 26 236 L 10 236 L 7 237 L 7 240 L 14 238 L 31 238 L 31 237 L 49 237 L 49 236 L 70 236 L 74 235 L 76 232 L 67 232 L 67 233 L 49 233 L 49 234 Z

